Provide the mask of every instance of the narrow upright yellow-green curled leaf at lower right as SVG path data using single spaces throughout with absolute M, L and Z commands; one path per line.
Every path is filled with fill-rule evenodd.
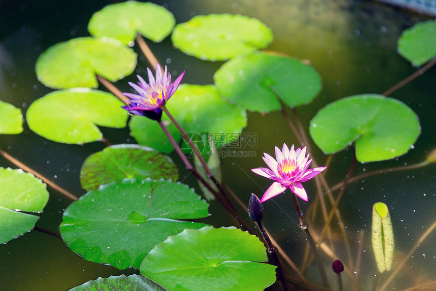
M 390 271 L 393 259 L 393 230 L 389 210 L 386 204 L 373 205 L 372 244 L 377 268 L 380 273 Z

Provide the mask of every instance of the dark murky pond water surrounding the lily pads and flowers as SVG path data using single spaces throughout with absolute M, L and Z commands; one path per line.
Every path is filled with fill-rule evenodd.
M 92 1 L 80 5 L 75 1 L 0 2 L 0 100 L 21 108 L 25 113 L 33 101 L 51 92 L 35 76 L 34 64 L 38 56 L 53 44 L 88 36 L 87 23 L 92 13 L 110 3 L 113 1 Z M 326 104 L 354 94 L 381 94 L 415 72 L 416 69 L 397 54 L 396 41 L 404 29 L 430 19 L 378 2 L 348 0 L 174 0 L 155 3 L 170 10 L 177 23 L 188 21 L 195 15 L 210 13 L 239 13 L 266 23 L 274 34 L 274 41 L 268 50 L 310 60 L 322 77 L 322 90 L 314 102 L 297 110 L 306 128 L 309 120 Z M 222 65 L 222 62 L 201 61 L 181 53 L 172 47 L 170 38 L 149 45 L 159 60 L 170 61 L 168 66 L 171 71 L 186 70 L 185 83 L 211 84 L 213 73 Z M 143 57 L 138 59 L 138 64 L 142 69 L 149 66 Z M 133 81 L 134 77 L 126 80 Z M 392 160 L 358 164 L 353 176 L 412 165 L 425 159 L 436 145 L 435 80 L 436 69 L 432 68 L 390 95 L 407 104 L 419 116 L 421 135 L 414 149 Z M 129 90 L 125 80 L 118 82 L 117 86 L 122 91 Z M 102 132 L 113 143 L 135 143 L 127 128 L 102 128 Z M 257 134 L 256 154 L 223 158 L 222 166 L 224 180 L 241 200 L 248 202 L 251 192 L 260 197 L 270 185 L 269 180 L 250 171 L 264 167 L 261 158 L 263 152 L 273 154 L 275 145 L 290 145 L 297 143 L 297 139 L 279 112 L 248 113 L 248 126 L 243 132 Z M 51 142 L 31 132 L 26 124 L 20 135 L 1 135 L 0 146 L 78 196 L 85 193 L 79 181 L 84 159 L 104 148 L 104 144 L 98 142 L 84 146 Z M 314 144 L 311 144 L 311 148 L 317 163 L 324 165 L 327 156 Z M 353 147 L 334 155 L 325 176 L 331 186 L 343 181 L 353 155 Z M 171 157 L 180 166 L 179 169 L 184 168 L 176 155 L 172 154 Z M 0 157 L 0 167 L 15 168 L 3 157 Z M 181 172 L 180 179 L 184 175 L 188 173 Z M 188 177 L 184 183 L 197 187 L 192 177 Z M 315 197 L 315 183 L 306 182 L 305 188 L 309 193 L 309 202 L 300 203 L 306 212 Z M 72 201 L 51 188 L 49 191 L 50 200 L 38 225 L 58 232 L 62 213 Z M 372 205 L 376 202 L 384 202 L 392 217 L 396 242 L 395 268 L 395 264 L 405 260 L 407 253 L 435 219 L 434 164 L 371 176 L 347 186 L 339 210 L 353 253 L 356 257 L 361 255 L 362 263 L 356 273 L 363 290 L 372 289 L 377 274 L 371 247 Z M 300 266 L 305 253 L 305 238 L 298 228 L 290 195 L 279 195 L 265 202 L 264 207 L 265 227 Z M 215 227 L 233 223 L 217 202 L 212 202 L 209 212 L 212 213 L 211 217 L 202 221 Z M 317 214 L 311 227 L 319 233 L 322 225 L 322 218 Z M 359 231 L 362 231 L 360 235 Z M 361 234 L 364 234 L 363 237 Z M 361 253 L 360 240 L 364 243 Z M 337 233 L 331 234 L 328 244 L 334 246 L 336 254 L 345 257 L 339 228 Z M 433 232 L 409 258 L 404 272 L 394 281 L 395 289 L 405 289 L 436 278 L 435 244 L 436 234 Z M 332 281 L 336 280 L 330 269 L 334 260 L 321 254 L 329 277 L 332 277 Z M 67 290 L 99 276 L 137 273 L 132 269 L 118 270 L 85 261 L 59 239 L 37 231 L 0 245 L 0 256 L 0 290 Z M 320 283 L 316 266 L 309 269 L 306 276 Z M 345 283 L 349 284 L 346 276 L 343 277 Z M 387 277 L 382 274 L 379 285 Z M 336 287 L 335 283 L 332 286 Z M 271 289 L 278 289 L 278 286 L 274 285 Z

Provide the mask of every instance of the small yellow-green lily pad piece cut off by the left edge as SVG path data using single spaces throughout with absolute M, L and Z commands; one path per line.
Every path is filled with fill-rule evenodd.
M 0 134 L 16 135 L 23 132 L 23 115 L 12 104 L 0 101 Z

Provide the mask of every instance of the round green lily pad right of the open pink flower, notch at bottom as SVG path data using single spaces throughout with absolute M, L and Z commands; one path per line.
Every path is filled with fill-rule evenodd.
M 406 153 L 420 134 L 418 117 L 406 104 L 377 94 L 354 95 L 325 106 L 310 121 L 310 136 L 326 154 L 355 141 L 360 162 Z

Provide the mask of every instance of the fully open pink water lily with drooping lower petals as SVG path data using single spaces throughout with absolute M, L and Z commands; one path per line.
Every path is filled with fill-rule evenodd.
M 298 197 L 307 201 L 307 193 L 301 182 L 312 179 L 327 168 L 307 169 L 312 160 L 309 159 L 309 154 L 306 156 L 306 147 L 294 150 L 294 145 L 288 149 L 287 145 L 283 144 L 281 151 L 278 147 L 275 147 L 275 157 L 277 160 L 267 153 L 264 153 L 264 155 L 262 158 L 270 169 L 257 168 L 251 169 L 251 171 L 275 180 L 275 182 L 266 190 L 261 202 L 279 195 L 286 188 L 289 188 Z

